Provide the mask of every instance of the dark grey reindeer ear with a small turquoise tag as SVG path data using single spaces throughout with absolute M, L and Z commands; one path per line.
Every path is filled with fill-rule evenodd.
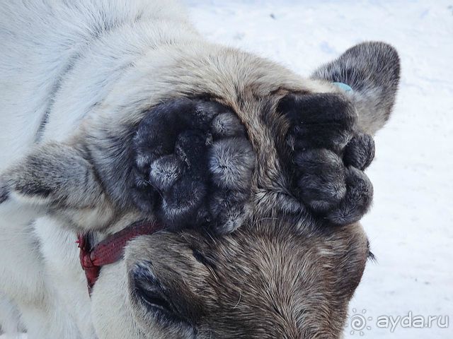
M 357 109 L 360 130 L 374 134 L 384 126 L 398 88 L 398 53 L 384 42 L 357 44 L 321 66 L 311 78 L 350 86 L 348 97 Z

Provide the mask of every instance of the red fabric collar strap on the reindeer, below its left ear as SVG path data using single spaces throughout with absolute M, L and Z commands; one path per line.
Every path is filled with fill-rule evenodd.
M 76 243 L 79 244 L 80 263 L 85 271 L 88 292 L 91 294 L 91 289 L 98 279 L 101 266 L 120 260 L 130 239 L 139 235 L 152 234 L 160 229 L 161 227 L 156 224 L 135 223 L 124 230 L 120 230 L 120 232 L 109 235 L 93 247 L 89 242 L 88 234 L 78 234 Z

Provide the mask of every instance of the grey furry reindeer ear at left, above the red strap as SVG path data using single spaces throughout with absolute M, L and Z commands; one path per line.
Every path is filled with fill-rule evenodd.
M 57 143 L 35 148 L 0 174 L 0 218 L 11 216 L 5 206 L 32 219 L 62 215 L 82 228 L 102 227 L 112 213 L 91 164 L 75 148 Z

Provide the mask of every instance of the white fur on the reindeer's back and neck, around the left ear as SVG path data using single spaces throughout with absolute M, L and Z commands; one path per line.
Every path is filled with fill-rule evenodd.
M 3 1 L 0 172 L 36 141 L 68 140 L 130 65 L 157 45 L 196 37 L 173 1 Z M 40 216 L 38 201 L 27 199 L 0 205 L 1 328 L 18 331 L 23 323 L 29 339 L 96 338 L 76 234 Z

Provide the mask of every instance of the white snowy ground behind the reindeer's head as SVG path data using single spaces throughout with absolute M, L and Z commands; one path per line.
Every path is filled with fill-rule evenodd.
M 365 338 L 453 338 L 453 1 L 185 2 L 210 40 L 305 75 L 363 40 L 398 49 L 401 90 L 376 138 L 374 207 L 363 220 L 377 263 L 350 309 L 351 322 L 367 323 L 353 334 L 350 324 L 345 338 L 362 327 Z M 398 316 L 409 312 L 403 324 L 412 328 L 403 328 Z M 378 328 L 379 316 L 398 321 L 393 332 Z M 415 316 L 444 316 L 441 325 L 448 316 L 449 326 L 413 328 Z

